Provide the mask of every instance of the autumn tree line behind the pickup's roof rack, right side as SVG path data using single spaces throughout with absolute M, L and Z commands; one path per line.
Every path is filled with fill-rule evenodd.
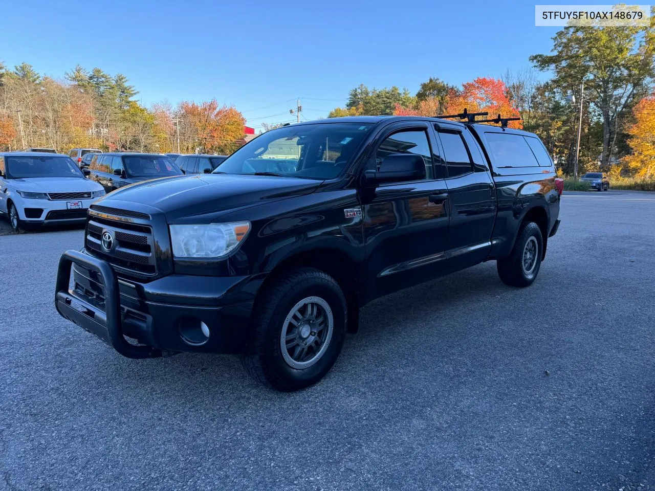
M 653 27 L 565 27 L 553 37 L 552 54 L 531 56 L 527 69 L 461 87 L 430 77 L 413 95 L 361 84 L 329 117 L 435 116 L 464 108 L 518 116 L 510 126 L 538 134 L 561 172 L 572 175 L 582 100 L 578 172 L 655 179 L 654 35 Z M 552 77 L 540 81 L 539 71 Z

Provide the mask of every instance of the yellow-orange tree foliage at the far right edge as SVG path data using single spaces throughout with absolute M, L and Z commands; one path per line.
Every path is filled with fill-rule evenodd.
M 643 98 L 633 109 L 635 122 L 627 128 L 632 148 L 624 162 L 642 179 L 655 178 L 655 94 Z

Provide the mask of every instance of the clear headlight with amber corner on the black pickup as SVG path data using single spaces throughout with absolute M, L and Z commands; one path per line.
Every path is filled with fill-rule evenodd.
M 250 222 L 169 225 L 176 257 L 223 257 L 243 242 Z

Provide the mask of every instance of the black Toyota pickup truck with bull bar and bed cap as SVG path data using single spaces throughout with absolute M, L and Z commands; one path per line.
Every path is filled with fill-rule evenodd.
M 127 357 L 239 354 L 261 382 L 297 390 L 329 371 L 359 309 L 381 295 L 489 260 L 502 282 L 530 285 L 562 184 L 538 137 L 505 127 L 284 126 L 213 173 L 92 204 L 55 304 Z

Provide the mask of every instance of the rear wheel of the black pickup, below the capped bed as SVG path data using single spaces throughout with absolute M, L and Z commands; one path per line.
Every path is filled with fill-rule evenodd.
M 536 223 L 523 225 L 510 255 L 496 261 L 500 281 L 515 287 L 531 285 L 541 267 L 543 244 L 541 229 Z

